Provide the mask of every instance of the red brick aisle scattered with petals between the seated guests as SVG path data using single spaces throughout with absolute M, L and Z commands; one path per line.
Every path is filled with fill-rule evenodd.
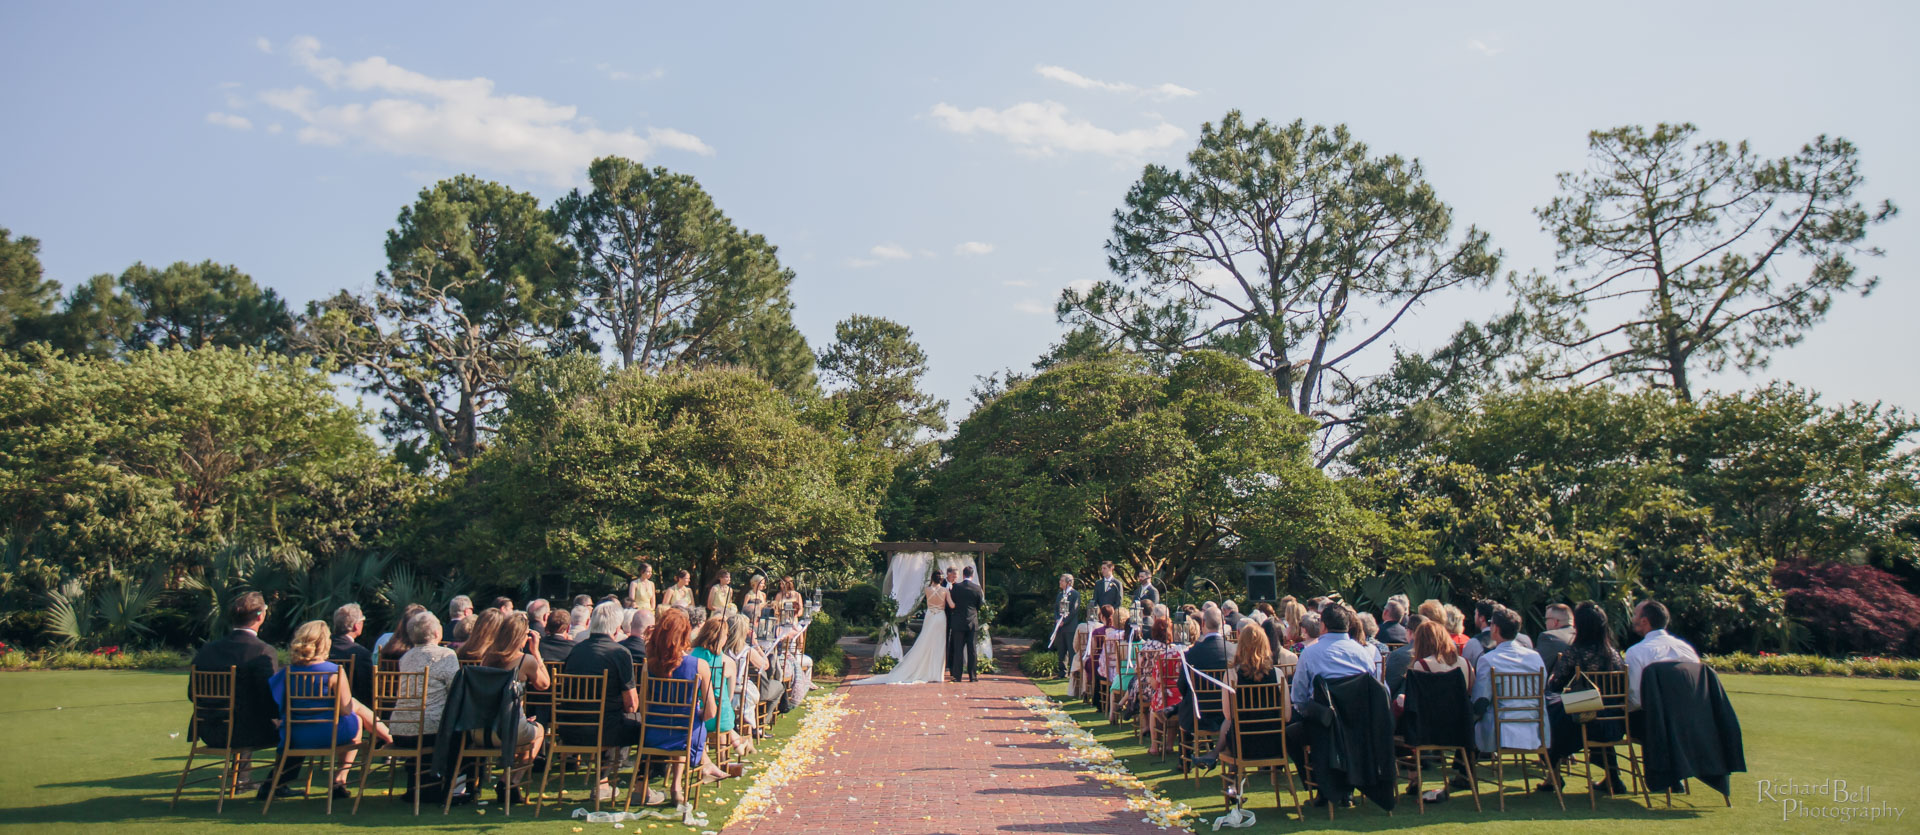
M 1060 760 L 1066 747 L 1016 701 L 1041 691 L 1010 656 L 979 683 L 849 687 L 839 756 L 787 785 L 780 814 L 728 831 L 1160 835 L 1119 789 Z

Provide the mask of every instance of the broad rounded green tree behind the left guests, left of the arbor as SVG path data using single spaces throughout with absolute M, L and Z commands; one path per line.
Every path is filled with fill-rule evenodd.
M 641 559 L 851 580 L 877 537 L 885 465 L 814 426 L 741 369 L 653 374 L 593 357 L 515 384 L 499 441 L 442 484 L 422 559 L 461 555 L 482 580 L 630 574 Z

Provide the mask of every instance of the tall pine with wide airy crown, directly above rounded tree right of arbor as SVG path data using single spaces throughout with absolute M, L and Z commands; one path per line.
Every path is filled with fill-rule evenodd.
M 1373 152 L 1346 127 L 1248 123 L 1200 129 L 1187 169 L 1148 165 L 1114 211 L 1112 280 L 1066 290 L 1064 322 L 1116 344 L 1179 355 L 1212 347 L 1265 372 L 1321 426 L 1321 465 L 1354 438 L 1352 370 L 1423 303 L 1484 286 L 1500 263 L 1486 234 L 1452 234 L 1419 161 Z

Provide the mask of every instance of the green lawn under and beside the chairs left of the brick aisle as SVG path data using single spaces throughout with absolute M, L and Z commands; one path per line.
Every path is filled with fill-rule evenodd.
M 816 693 L 818 697 L 820 693 Z M 799 724 L 799 712 L 780 720 L 755 760 L 778 754 Z M 390 831 L 616 831 L 607 823 L 564 823 L 578 802 L 549 806 L 534 820 L 530 808 L 505 818 L 488 806 L 438 808 L 413 816 L 411 804 L 388 800 L 384 772 L 369 781 L 361 814 L 349 816 L 351 802 L 275 800 L 261 816 L 246 797 L 228 800 L 227 812 L 213 814 L 209 787 L 190 787 L 177 810 L 167 808 L 180 766 L 186 760 L 186 674 L 182 672 L 6 672 L 0 674 L 0 829 L 8 831 L 207 831 L 244 829 L 248 833 L 311 833 L 380 827 Z M 179 737 L 173 737 L 179 733 Z M 756 772 L 749 770 L 747 779 Z M 355 779 L 359 774 L 355 774 Z M 380 781 L 382 793 L 374 793 Z M 570 777 L 578 787 L 578 779 Z M 718 789 L 718 791 L 716 791 Z M 745 779 L 707 787 L 701 810 L 712 829 L 726 822 L 733 802 L 747 789 Z M 484 795 L 492 800 L 492 791 Z M 578 791 L 576 791 L 578 797 Z M 484 810 L 484 814 L 482 814 Z M 653 822 L 647 822 L 653 823 Z M 678 822 L 626 823 L 624 831 L 687 833 Z M 563 829 L 564 827 L 564 829 Z

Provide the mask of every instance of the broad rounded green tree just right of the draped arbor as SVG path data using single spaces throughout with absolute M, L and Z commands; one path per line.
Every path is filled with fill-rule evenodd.
M 1021 570 L 1112 559 L 1179 584 L 1213 561 L 1281 559 L 1286 582 L 1338 584 L 1373 526 L 1313 466 L 1309 432 L 1217 351 L 1164 376 L 1131 355 L 1062 363 L 960 422 L 935 476 L 941 524 L 1006 541 Z

